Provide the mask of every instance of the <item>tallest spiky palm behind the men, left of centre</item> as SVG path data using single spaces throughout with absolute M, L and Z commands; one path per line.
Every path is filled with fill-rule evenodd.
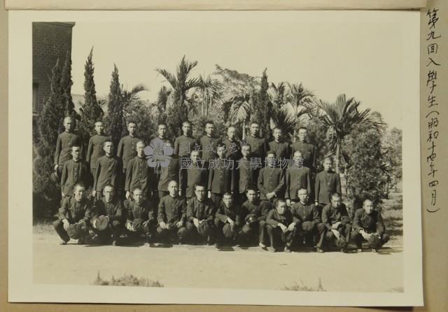
M 188 62 L 185 55 L 176 67 L 176 74 L 172 74 L 166 69 L 155 69 L 162 75 L 172 87 L 173 105 L 179 108 L 181 113 L 188 116 L 188 109 L 192 99 L 188 97 L 188 90 L 200 87 L 198 78 L 189 78 L 191 71 L 197 66 L 197 61 Z

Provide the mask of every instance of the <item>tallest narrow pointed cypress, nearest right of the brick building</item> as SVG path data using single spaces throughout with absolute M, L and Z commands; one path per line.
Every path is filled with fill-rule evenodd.
M 95 91 L 92 52 L 93 48 L 90 50 L 84 66 L 84 104 L 80 108 L 80 125 L 78 127 L 84 146 L 89 143 L 94 123 L 101 120 L 103 116 L 103 110 L 98 104 L 97 92 Z

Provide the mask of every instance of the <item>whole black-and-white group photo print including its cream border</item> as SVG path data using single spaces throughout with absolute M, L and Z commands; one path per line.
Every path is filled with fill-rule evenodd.
M 10 30 L 10 298 L 421 304 L 418 12 Z

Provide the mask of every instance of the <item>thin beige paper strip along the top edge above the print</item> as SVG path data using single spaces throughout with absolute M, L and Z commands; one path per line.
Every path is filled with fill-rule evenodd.
M 426 0 L 6 0 L 7 10 L 409 10 Z

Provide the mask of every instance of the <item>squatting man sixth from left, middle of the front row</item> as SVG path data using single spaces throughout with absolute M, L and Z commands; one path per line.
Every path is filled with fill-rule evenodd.
M 219 203 L 215 216 L 217 243 L 222 243 L 224 239 L 236 241 L 243 221 L 241 210 L 234 204 L 232 194 L 229 192 L 223 194 L 223 200 Z

